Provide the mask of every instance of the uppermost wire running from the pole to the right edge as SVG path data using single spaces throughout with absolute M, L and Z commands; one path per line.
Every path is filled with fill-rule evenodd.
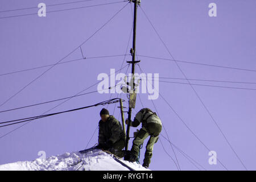
M 222 66 L 222 65 L 195 63 L 195 62 L 192 62 L 192 61 L 181 61 L 181 60 L 167 59 L 167 58 L 154 57 L 154 56 L 145 56 L 145 55 L 139 55 L 139 56 L 141 56 L 141 57 L 147 57 L 147 58 L 151 58 L 151 59 L 159 59 L 159 60 L 167 60 L 167 61 L 176 61 L 176 62 L 179 62 L 179 63 L 197 64 L 197 65 L 203 65 L 203 66 L 208 66 L 208 67 L 228 68 L 228 69 L 236 69 L 236 70 L 240 70 L 240 71 L 256 72 L 255 69 L 243 69 L 243 68 L 235 68 L 235 67 L 226 67 L 226 66 Z

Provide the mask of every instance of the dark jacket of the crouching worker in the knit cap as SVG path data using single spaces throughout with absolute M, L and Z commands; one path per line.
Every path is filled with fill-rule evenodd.
M 106 122 L 100 120 L 98 123 L 98 144 L 104 144 L 105 142 L 115 143 L 120 139 L 125 140 L 125 133 L 123 133 L 121 123 L 110 115 Z

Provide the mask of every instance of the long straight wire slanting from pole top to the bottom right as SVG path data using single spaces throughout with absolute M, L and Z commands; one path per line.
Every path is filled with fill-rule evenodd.
M 190 84 L 191 88 L 193 89 L 193 91 L 195 92 L 197 98 L 199 98 L 201 104 L 204 106 L 205 110 L 207 110 L 207 113 L 209 114 L 210 118 L 212 118 L 212 121 L 215 123 L 215 125 L 217 126 L 218 130 L 220 130 L 222 136 L 224 137 L 224 139 L 226 140 L 226 143 L 228 143 L 229 147 L 232 149 L 232 151 L 234 152 L 234 154 L 237 156 L 237 159 L 240 160 L 242 166 L 247 170 L 247 168 L 245 167 L 245 164 L 243 164 L 241 158 L 237 155 L 237 152 L 234 150 L 234 148 L 232 147 L 232 145 L 230 144 L 228 138 L 226 138 L 225 134 L 223 133 L 223 131 L 221 130 L 220 126 L 218 126 L 217 122 L 215 121 L 215 119 L 213 118 L 213 115 L 210 113 L 210 111 L 208 110 L 207 106 L 204 104 L 203 100 L 201 100 L 201 97 L 199 96 L 199 94 L 196 92 L 195 88 L 193 88 L 193 86 L 191 85 L 191 83 L 189 82 L 187 76 L 185 75 L 185 73 L 182 71 L 182 69 L 180 68 L 179 64 L 177 63 L 177 61 L 174 59 L 174 56 L 172 56 L 172 53 L 170 52 L 170 50 L 168 49 L 168 47 L 166 46 L 166 44 L 164 43 L 163 39 L 160 37 L 160 35 L 158 34 L 158 31 L 156 31 L 154 25 L 152 24 L 152 22 L 150 21 L 150 19 L 148 18 L 148 16 L 146 15 L 146 13 L 144 12 L 144 10 L 141 7 L 141 10 L 143 11 L 143 14 L 146 16 L 148 22 L 150 22 L 152 28 L 154 29 L 155 33 L 158 35 L 158 38 L 160 39 L 160 41 L 163 43 L 164 47 L 166 48 L 166 50 L 168 51 L 168 53 L 170 54 L 170 56 L 172 57 L 172 59 L 175 61 L 177 67 L 179 68 L 180 72 L 183 74 L 183 76 L 187 79 L 188 83 Z

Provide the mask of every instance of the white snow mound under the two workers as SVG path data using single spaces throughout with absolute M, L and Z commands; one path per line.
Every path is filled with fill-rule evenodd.
M 125 160 L 122 162 L 136 171 L 149 170 L 135 162 L 130 163 Z M 115 161 L 111 154 L 94 149 L 86 154 L 66 152 L 46 159 L 3 164 L 0 165 L 0 171 L 129 171 L 129 169 Z

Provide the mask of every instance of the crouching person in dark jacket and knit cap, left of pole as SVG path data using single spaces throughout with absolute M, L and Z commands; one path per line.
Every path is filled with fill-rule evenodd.
M 123 147 L 125 147 L 125 133 L 122 130 L 121 123 L 109 115 L 109 111 L 102 109 L 100 111 L 101 120 L 98 123 L 98 146 L 103 150 L 108 150 L 112 154 L 123 157 Z

